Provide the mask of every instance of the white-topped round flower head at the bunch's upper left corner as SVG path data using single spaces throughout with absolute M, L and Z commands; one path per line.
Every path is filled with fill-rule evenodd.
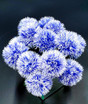
M 23 38 L 29 38 L 32 40 L 38 29 L 39 26 L 37 20 L 27 17 L 20 21 L 18 25 L 18 35 L 22 36 Z

